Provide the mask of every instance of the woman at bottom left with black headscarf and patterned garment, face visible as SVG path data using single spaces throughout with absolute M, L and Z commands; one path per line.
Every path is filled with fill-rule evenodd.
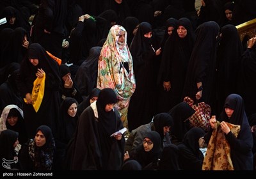
M 22 170 L 47 171 L 52 169 L 55 141 L 52 130 L 46 125 L 36 129 L 36 135 L 23 144 L 19 151 Z

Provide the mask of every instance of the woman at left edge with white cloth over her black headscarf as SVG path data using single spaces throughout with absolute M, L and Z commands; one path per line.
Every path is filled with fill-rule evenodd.
M 0 118 L 0 133 L 6 129 L 19 133 L 20 144 L 28 141 L 23 111 L 17 105 L 10 104 L 3 109 L 3 113 Z

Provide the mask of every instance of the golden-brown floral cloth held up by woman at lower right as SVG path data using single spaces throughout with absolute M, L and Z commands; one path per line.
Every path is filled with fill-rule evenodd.
M 227 122 L 226 122 L 227 123 Z M 234 136 L 238 136 L 240 125 L 227 123 Z M 205 153 L 202 170 L 234 170 L 230 158 L 230 145 L 220 125 L 213 132 Z

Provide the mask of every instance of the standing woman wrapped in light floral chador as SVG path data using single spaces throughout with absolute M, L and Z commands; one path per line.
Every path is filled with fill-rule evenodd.
M 135 90 L 132 56 L 126 40 L 124 27 L 111 27 L 100 52 L 97 81 L 97 88 L 111 88 L 115 91 L 118 99 L 115 107 L 125 127 L 130 98 Z

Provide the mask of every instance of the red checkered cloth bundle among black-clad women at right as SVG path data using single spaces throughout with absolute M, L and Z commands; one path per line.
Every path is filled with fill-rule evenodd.
M 209 120 L 211 118 L 211 106 L 205 102 L 200 102 L 197 105 L 194 101 L 185 97 L 184 102 L 188 103 L 194 110 L 195 113 L 189 118 L 189 123 L 191 127 L 200 127 L 205 131 L 209 130 L 210 124 Z

